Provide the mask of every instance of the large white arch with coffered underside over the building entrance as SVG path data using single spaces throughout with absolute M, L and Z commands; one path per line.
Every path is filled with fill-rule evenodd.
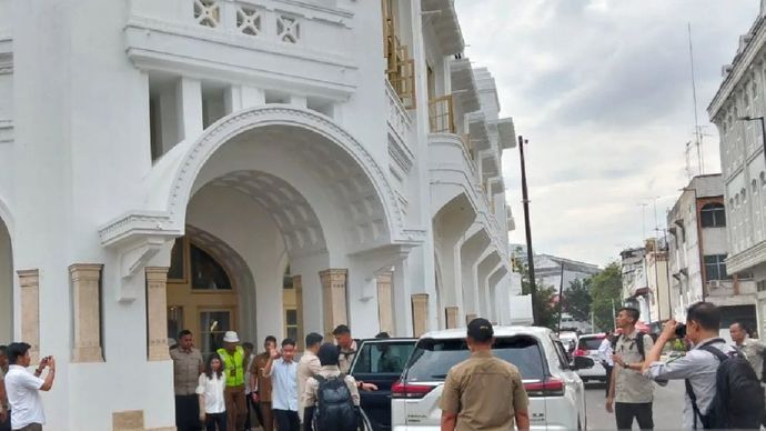
M 238 156 L 230 156 L 223 170 L 209 169 L 215 159 L 224 158 L 222 150 L 232 147 L 235 150 L 223 152 Z M 272 160 L 264 152 L 281 156 L 284 164 L 258 163 Z M 343 238 L 346 252 L 421 240 L 404 229 L 393 189 L 366 149 L 329 118 L 289 106 L 235 112 L 198 139 L 175 146 L 147 179 L 149 209 L 169 216 L 168 229 L 182 229 L 190 197 L 206 182 L 231 173 L 232 164 L 238 164 L 235 170 L 279 177 L 304 192 L 325 229 L 343 227 L 325 233 Z M 204 170 L 212 177 L 205 178 Z

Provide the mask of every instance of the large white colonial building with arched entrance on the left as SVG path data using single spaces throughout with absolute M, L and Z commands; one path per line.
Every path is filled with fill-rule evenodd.
M 452 0 L 0 0 L 0 342 L 50 430 L 174 429 L 168 339 L 507 322 L 494 80 Z

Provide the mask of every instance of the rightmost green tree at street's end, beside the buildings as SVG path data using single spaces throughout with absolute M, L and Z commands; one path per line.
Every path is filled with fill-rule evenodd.
M 591 310 L 596 329 L 614 329 L 615 308 L 622 307 L 623 275 L 617 262 L 609 263 L 603 271 L 591 278 Z

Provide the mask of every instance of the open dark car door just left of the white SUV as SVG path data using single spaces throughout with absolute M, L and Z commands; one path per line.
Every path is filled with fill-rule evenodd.
M 391 429 L 391 387 L 399 381 L 415 339 L 365 340 L 351 364 L 351 375 L 365 383 L 373 383 L 376 391 L 360 391 L 362 410 L 373 430 Z

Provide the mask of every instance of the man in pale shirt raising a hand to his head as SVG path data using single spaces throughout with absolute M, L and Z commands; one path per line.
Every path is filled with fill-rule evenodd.
M 273 349 L 263 375 L 271 378 L 271 408 L 280 431 L 300 431 L 301 419 L 298 415 L 298 363 L 295 341 L 284 339 L 282 349 Z

